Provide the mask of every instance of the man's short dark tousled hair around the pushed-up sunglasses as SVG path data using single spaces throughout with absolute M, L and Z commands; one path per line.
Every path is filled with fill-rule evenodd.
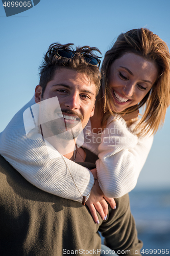
M 55 71 L 62 67 L 73 69 L 80 73 L 86 74 L 89 77 L 90 81 L 94 82 L 96 86 L 96 95 L 98 94 L 101 80 L 101 73 L 99 67 L 89 64 L 85 60 L 84 55 L 90 55 L 94 58 L 99 58 L 95 55 L 94 52 L 99 52 L 101 54 L 100 50 L 95 47 L 83 46 L 76 47 L 76 50 L 74 51 L 71 47 L 73 45 L 74 44 L 61 45 L 59 43 L 55 43 L 50 45 L 50 47 L 48 48 L 48 51 L 44 55 L 42 65 L 39 67 L 39 84 L 42 87 L 42 97 L 46 88 L 46 84 L 53 79 Z M 56 49 L 66 49 L 74 51 L 75 56 L 73 58 L 59 57 Z

